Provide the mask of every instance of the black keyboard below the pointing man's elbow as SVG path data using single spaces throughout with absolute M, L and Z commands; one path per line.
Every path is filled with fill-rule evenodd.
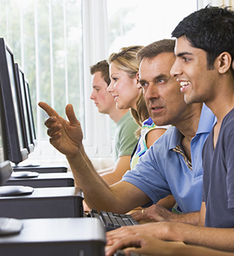
M 135 221 L 134 218 L 132 218 L 131 215 L 119 215 L 118 213 L 113 212 L 96 212 L 96 210 L 92 210 L 87 216 L 99 218 L 105 226 L 106 231 L 111 231 L 115 228 L 120 228 L 123 226 L 132 226 L 139 224 L 137 221 Z

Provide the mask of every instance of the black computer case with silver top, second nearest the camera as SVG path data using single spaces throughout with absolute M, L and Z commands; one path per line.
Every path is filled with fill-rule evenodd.
M 34 189 L 31 195 L 0 197 L 0 217 L 74 218 L 83 216 L 83 192 L 75 187 Z

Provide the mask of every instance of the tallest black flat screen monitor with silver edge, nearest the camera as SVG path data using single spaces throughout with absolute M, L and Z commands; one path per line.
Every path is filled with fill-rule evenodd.
M 19 103 L 14 56 L 4 38 L 0 38 L 0 56 L 0 79 L 8 159 L 18 164 L 28 158 L 27 139 Z

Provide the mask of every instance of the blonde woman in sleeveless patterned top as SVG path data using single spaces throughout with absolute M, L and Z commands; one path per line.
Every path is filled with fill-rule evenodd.
M 139 129 L 136 136 L 141 138 L 138 141 L 137 150 L 132 157 L 132 168 L 138 162 L 140 156 L 153 145 L 169 126 L 155 126 L 143 97 L 141 84 L 138 83 L 138 69 L 140 61 L 136 54 L 143 48 L 142 46 L 130 46 L 122 48 L 119 53 L 109 56 L 109 74 L 111 83 L 107 90 L 115 99 L 116 107 L 119 110 L 131 108 L 132 116 L 135 118 Z M 142 126 L 143 124 L 143 126 Z M 142 129 L 141 129 L 142 126 Z M 140 147 L 140 148 L 139 148 Z M 124 173 L 122 173 L 124 175 Z M 168 195 L 161 199 L 158 205 L 165 208 L 172 208 L 175 204 L 174 197 Z

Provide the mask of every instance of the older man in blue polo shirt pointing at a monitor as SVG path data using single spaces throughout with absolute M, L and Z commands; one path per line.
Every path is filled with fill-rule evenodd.
M 187 214 L 181 218 L 165 209 L 162 219 L 170 215 L 171 221 L 197 223 L 199 213 L 193 211 L 199 211 L 201 205 L 201 150 L 214 116 L 203 103 L 184 102 L 180 84 L 170 74 L 175 61 L 174 44 L 174 40 L 157 41 L 141 49 L 138 56 L 141 58 L 139 82 L 152 120 L 158 126 L 175 127 L 154 143 L 135 169 L 112 186 L 96 174 L 86 156 L 83 133 L 73 107 L 70 104 L 66 107 L 67 121 L 46 103 L 39 103 L 50 116 L 45 121 L 50 143 L 67 156 L 76 185 L 83 189 L 90 208 L 125 213 L 151 200 L 156 203 L 166 195 L 174 195 Z

